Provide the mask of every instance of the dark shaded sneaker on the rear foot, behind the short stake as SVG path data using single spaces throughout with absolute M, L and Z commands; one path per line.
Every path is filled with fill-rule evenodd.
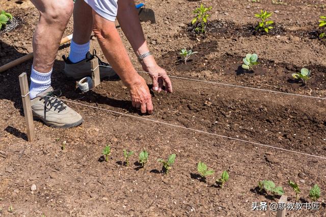
M 69 79 L 73 80 L 80 80 L 85 77 L 91 77 L 92 71 L 91 71 L 91 62 L 94 57 L 98 56 L 96 55 L 96 50 L 93 50 L 93 54 L 88 52 L 86 54 L 86 58 L 82 61 L 79 61 L 78 63 L 71 63 L 69 60 L 69 57 L 66 58 L 65 55 L 62 56 L 63 60 L 65 61 L 65 74 Z M 113 70 L 113 68 L 98 58 L 98 64 L 100 68 L 100 78 L 110 78 L 110 79 L 119 79 L 119 76 L 117 73 Z

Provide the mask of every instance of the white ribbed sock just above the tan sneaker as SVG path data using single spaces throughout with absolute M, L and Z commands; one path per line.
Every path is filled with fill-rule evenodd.
M 48 73 L 40 73 L 32 66 L 30 97 L 31 100 L 36 97 L 40 92 L 43 92 L 51 86 L 51 71 Z

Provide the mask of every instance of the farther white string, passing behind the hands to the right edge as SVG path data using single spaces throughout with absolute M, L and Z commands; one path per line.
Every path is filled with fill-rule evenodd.
M 102 65 L 100 65 L 100 66 L 101 67 L 112 68 L 111 66 L 102 66 Z M 145 73 L 145 74 L 153 74 L 153 73 L 143 72 L 143 71 L 137 71 L 137 72 Z M 168 76 L 170 78 L 179 78 L 179 79 L 184 79 L 184 80 L 200 81 L 200 82 L 206 82 L 206 83 L 218 84 L 218 85 L 224 85 L 224 86 L 247 88 L 247 89 L 260 90 L 260 91 L 266 91 L 266 92 L 274 92 L 276 94 L 285 94 L 285 95 L 291 95 L 291 96 L 296 96 L 296 97 L 307 97 L 307 98 L 313 98 L 313 99 L 319 99 L 319 100 L 326 100 L 326 98 L 323 98 L 323 97 L 313 97 L 313 96 L 307 96 L 307 95 L 301 95 L 301 94 L 291 94 L 290 92 L 281 92 L 281 91 L 276 91 L 276 90 L 261 89 L 261 88 L 255 88 L 255 87 L 247 87 L 247 86 L 240 86 L 240 85 L 235 85 L 235 84 L 226 84 L 226 83 L 220 83 L 220 82 L 214 82 L 214 81 L 205 81 L 205 80 L 199 80 L 199 79 L 194 79 L 194 78 L 178 77 L 178 76 L 173 76 L 173 75 L 168 75 Z

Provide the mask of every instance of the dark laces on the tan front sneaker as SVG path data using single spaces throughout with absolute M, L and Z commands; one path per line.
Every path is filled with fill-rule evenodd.
M 57 94 L 59 93 L 59 94 Z M 44 99 L 44 119 L 47 111 L 50 111 L 52 108 L 54 108 L 54 111 L 58 111 L 60 113 L 61 111 L 65 110 L 67 106 L 61 102 L 57 97 L 61 96 L 60 90 L 53 90 L 51 92 L 48 92 L 48 94 L 40 99 Z

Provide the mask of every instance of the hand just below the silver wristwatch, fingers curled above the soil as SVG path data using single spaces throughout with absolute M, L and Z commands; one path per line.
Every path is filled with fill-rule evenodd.
M 172 83 L 167 75 L 167 72 L 159 67 L 154 58 L 152 56 L 148 56 L 145 58 L 142 62 L 143 69 L 149 73 L 149 76 L 151 77 L 153 81 L 153 90 L 154 91 L 162 91 L 162 88 L 165 83 L 165 91 L 166 92 L 172 92 Z

